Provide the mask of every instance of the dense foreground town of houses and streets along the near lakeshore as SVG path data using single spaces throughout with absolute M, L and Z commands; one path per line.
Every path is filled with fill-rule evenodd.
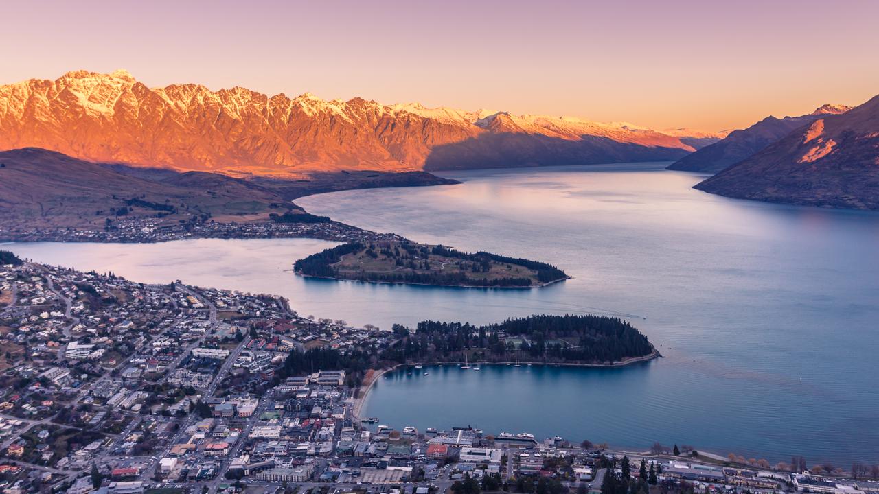
M 360 405 L 396 331 L 268 294 L 3 262 L 0 492 L 879 493 L 877 466 L 380 425 Z

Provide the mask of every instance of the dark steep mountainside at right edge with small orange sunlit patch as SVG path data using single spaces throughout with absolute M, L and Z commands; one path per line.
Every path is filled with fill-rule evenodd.
M 697 189 L 788 204 L 879 210 L 879 96 L 817 120 Z

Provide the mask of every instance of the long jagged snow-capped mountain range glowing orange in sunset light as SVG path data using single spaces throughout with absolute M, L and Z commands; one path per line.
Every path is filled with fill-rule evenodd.
M 93 162 L 242 177 L 672 160 L 705 138 L 308 93 L 150 89 L 124 70 L 0 86 L 0 149 L 39 147 Z

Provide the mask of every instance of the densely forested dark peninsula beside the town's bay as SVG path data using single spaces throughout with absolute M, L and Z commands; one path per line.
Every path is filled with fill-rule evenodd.
M 503 323 L 423 321 L 399 337 L 383 360 L 404 365 L 444 362 L 535 363 L 618 367 L 659 357 L 641 331 L 618 317 L 527 316 Z

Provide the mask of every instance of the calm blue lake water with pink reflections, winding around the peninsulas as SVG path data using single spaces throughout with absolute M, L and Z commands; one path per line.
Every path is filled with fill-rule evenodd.
M 133 280 L 282 294 L 303 315 L 385 328 L 622 316 L 665 355 L 621 369 L 403 370 L 368 398 L 365 414 L 381 424 L 879 461 L 879 214 L 729 200 L 694 191 L 701 177 L 664 164 L 456 173 L 463 185 L 296 201 L 363 228 L 534 258 L 574 277 L 541 289 L 302 280 L 286 271 L 294 259 L 331 245 L 302 239 L 6 248 Z

